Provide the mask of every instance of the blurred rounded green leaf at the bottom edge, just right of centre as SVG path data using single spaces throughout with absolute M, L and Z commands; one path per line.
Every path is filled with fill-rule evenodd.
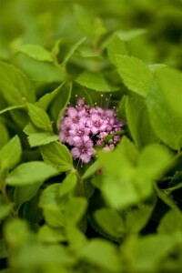
M 81 257 L 99 268 L 121 272 L 122 264 L 116 246 L 104 239 L 94 238 L 88 241 L 81 251 Z

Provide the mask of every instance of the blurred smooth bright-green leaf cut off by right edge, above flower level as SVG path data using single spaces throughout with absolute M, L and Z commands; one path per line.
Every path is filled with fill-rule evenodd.
M 182 76 L 181 72 L 174 68 L 165 67 L 157 70 L 157 83 L 161 94 L 171 109 L 172 113 L 182 117 Z M 174 115 L 175 116 L 175 115 Z

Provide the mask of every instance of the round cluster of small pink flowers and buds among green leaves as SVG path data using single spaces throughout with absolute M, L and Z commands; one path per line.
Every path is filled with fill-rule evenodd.
M 115 148 L 120 140 L 116 134 L 123 125 L 114 109 L 91 107 L 84 98 L 79 98 L 76 107 L 67 106 L 66 115 L 61 119 L 60 142 L 70 147 L 72 157 L 88 163 L 96 154 L 94 145 L 103 147 L 104 151 Z M 106 136 L 109 136 L 107 141 Z

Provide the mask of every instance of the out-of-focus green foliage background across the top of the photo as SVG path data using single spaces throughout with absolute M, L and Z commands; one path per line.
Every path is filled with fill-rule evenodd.
M 102 39 L 116 30 L 146 29 L 133 39 L 133 55 L 148 64 L 182 68 L 181 0 L 0 0 L 0 58 L 13 61 L 24 44 L 51 49 L 60 38 L 75 43 L 86 35 L 79 20 L 87 22 L 86 15 L 76 16 L 76 4 L 105 27 Z

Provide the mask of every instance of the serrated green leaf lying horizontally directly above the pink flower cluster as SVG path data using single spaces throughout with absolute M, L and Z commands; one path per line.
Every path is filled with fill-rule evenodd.
M 81 86 L 98 92 L 112 92 L 118 90 L 118 86 L 111 85 L 101 73 L 85 71 L 76 78 Z

